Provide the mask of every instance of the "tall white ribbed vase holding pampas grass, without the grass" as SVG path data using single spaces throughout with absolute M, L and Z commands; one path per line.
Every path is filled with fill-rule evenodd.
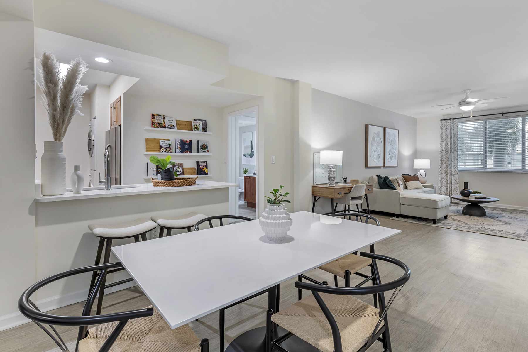
M 62 142 L 44 142 L 40 164 L 41 194 L 54 196 L 66 193 L 66 157 Z

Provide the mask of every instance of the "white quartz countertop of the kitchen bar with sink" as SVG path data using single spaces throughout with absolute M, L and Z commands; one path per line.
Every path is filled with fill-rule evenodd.
M 73 192 L 66 192 L 66 194 L 61 194 L 58 196 L 40 196 L 35 198 L 35 202 L 72 201 L 74 199 L 119 197 L 150 193 L 188 192 L 199 191 L 201 189 L 228 188 L 238 186 L 238 183 L 216 182 L 206 180 L 197 181 L 196 185 L 194 186 L 184 187 L 154 187 L 152 183 L 145 183 L 137 185 L 112 186 L 112 189 L 110 191 L 105 191 L 104 189 L 92 190 L 90 188 L 85 188 L 85 190 L 82 191 L 81 194 L 73 194 Z

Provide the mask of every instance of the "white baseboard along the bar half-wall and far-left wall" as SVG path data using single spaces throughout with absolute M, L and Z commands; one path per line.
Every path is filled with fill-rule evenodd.
M 133 287 L 133 286 L 136 286 L 136 282 L 130 281 L 122 285 L 110 287 L 106 289 L 105 294 L 124 290 L 129 287 Z M 44 298 L 42 300 L 36 301 L 35 305 L 39 307 L 39 309 L 42 310 L 43 312 L 46 312 L 52 309 L 69 306 L 69 305 L 72 305 L 73 303 L 82 302 L 86 300 L 86 297 L 88 297 L 88 289 L 83 290 L 83 291 L 72 292 L 72 293 L 66 294 L 65 296 L 54 296 L 54 297 Z M 15 326 L 25 324 L 26 322 L 29 322 L 29 321 L 31 320 L 24 317 L 22 313 L 18 311 L 14 313 L 6 314 L 4 316 L 0 316 L 0 331 L 14 328 Z

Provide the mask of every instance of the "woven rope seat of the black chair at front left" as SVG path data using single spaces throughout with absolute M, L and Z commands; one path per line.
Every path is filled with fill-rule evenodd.
M 79 352 L 98 352 L 117 324 L 111 322 L 90 328 L 88 337 L 79 341 Z M 150 317 L 129 320 L 110 348 L 110 352 L 200 352 L 200 350 L 200 339 L 188 325 L 171 329 L 156 308 Z

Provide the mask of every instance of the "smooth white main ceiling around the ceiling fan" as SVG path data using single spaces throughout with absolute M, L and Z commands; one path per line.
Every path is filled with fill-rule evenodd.
M 229 45 L 233 65 L 414 117 L 528 103 L 528 2 L 102 0 Z M 478 110 L 478 109 L 475 109 Z

